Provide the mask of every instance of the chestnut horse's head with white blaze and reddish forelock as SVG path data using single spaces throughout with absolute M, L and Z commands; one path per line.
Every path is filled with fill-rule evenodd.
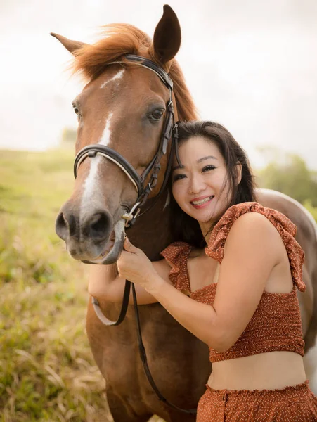
M 164 72 L 174 80 L 177 103 L 178 97 L 184 96 L 179 118 L 195 118 L 174 60 L 181 30 L 169 6 L 164 6 L 153 42 L 131 25 L 108 25 L 106 30 L 108 37 L 93 45 L 52 34 L 75 56 L 75 70 L 88 79 L 72 102 L 79 122 L 77 179 L 71 198 L 57 217 L 56 233 L 72 257 L 98 264 L 115 262 L 122 250 L 122 215 L 127 217 L 137 200 L 142 201 L 148 193 L 155 196 L 162 186 L 167 158 L 159 150 L 164 149 L 161 137 L 172 91 Z M 148 67 L 131 54 L 149 59 Z M 153 62 L 157 68 L 151 71 Z M 87 151 L 91 148 L 94 151 Z M 162 170 L 155 188 L 144 192 L 143 186 L 155 184 L 158 168 L 153 158 L 157 152 Z M 150 163 L 154 167 L 148 171 Z

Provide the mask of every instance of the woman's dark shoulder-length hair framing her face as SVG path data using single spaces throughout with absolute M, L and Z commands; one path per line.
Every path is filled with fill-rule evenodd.
M 179 146 L 181 146 L 183 142 L 188 141 L 192 136 L 203 136 L 214 143 L 224 157 L 231 198 L 228 198 L 227 206 L 224 210 L 221 210 L 220 215 L 216 215 L 212 219 L 210 232 L 229 207 L 239 203 L 254 202 L 256 200 L 254 177 L 250 169 L 249 160 L 247 159 L 247 154 L 240 147 L 238 142 L 235 141 L 231 133 L 219 123 L 208 121 L 180 122 L 178 124 L 178 129 Z M 240 162 L 242 166 L 242 175 L 240 184 L 237 185 L 238 162 Z M 170 177 L 169 186 L 172 191 L 172 175 Z M 172 233 L 174 234 L 176 241 L 184 241 L 191 243 L 198 248 L 202 248 L 205 245 L 205 238 L 202 235 L 198 221 L 193 217 L 190 217 L 186 212 L 183 212 L 172 195 L 171 208 L 173 215 Z

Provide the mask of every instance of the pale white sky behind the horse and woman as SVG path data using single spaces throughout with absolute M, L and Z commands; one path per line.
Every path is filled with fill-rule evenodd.
M 93 42 L 101 25 L 126 22 L 153 36 L 164 3 L 0 0 L 0 148 L 51 148 L 77 125 L 71 102 L 82 83 L 49 32 Z M 257 147 L 269 145 L 317 170 L 317 1 L 168 4 L 181 23 L 177 59 L 200 117 L 224 124 L 254 167 L 266 163 Z

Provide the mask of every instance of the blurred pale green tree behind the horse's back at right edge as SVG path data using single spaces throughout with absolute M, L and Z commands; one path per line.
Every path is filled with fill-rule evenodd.
M 286 154 L 281 162 L 271 161 L 259 172 L 259 186 L 283 192 L 300 203 L 309 201 L 317 207 L 316 172 L 311 172 L 299 155 Z

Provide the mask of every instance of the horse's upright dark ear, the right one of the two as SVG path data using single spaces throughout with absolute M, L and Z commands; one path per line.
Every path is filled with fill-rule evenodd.
M 176 56 L 181 46 L 181 26 L 173 9 L 164 5 L 164 12 L 155 28 L 150 53 L 162 64 Z

